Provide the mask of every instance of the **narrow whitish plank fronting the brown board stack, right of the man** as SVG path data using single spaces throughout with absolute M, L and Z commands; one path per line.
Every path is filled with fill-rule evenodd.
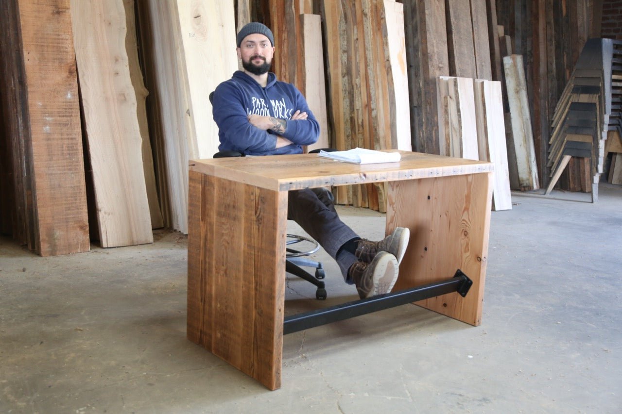
M 404 33 L 404 4 L 384 1 L 384 15 L 389 46 L 389 61 L 393 75 L 395 114 L 397 126 L 396 149 L 411 151 L 411 116 L 409 111 L 408 73 L 406 68 L 406 40 Z

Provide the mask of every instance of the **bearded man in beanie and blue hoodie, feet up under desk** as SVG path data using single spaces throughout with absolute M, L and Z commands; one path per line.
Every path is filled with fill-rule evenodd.
M 252 22 L 236 40 L 244 70 L 233 73 L 213 94 L 218 149 L 246 155 L 302 153 L 302 145 L 317 141 L 320 127 L 300 91 L 268 71 L 274 55 L 271 30 Z M 288 203 L 287 218 L 337 261 L 345 282 L 355 284 L 361 298 L 391 292 L 409 229 L 396 228 L 381 241 L 368 241 L 341 221 L 332 200 L 320 191 L 289 191 Z

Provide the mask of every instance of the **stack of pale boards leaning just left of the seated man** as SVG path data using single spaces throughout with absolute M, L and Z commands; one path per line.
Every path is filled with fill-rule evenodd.
M 208 96 L 238 68 L 233 2 L 138 2 L 142 64 L 165 223 L 188 232 L 188 160 L 218 151 Z

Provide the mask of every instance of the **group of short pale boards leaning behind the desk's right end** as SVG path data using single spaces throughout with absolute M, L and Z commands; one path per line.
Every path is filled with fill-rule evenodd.
M 501 82 L 439 78 L 440 155 L 494 163 L 493 210 L 512 208 Z

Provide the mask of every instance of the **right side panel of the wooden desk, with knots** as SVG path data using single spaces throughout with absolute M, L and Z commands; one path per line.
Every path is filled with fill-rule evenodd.
M 395 291 L 452 277 L 461 269 L 473 280 L 465 298 L 450 293 L 417 305 L 478 326 L 486 277 L 492 173 L 391 182 L 387 233 L 411 229 Z

